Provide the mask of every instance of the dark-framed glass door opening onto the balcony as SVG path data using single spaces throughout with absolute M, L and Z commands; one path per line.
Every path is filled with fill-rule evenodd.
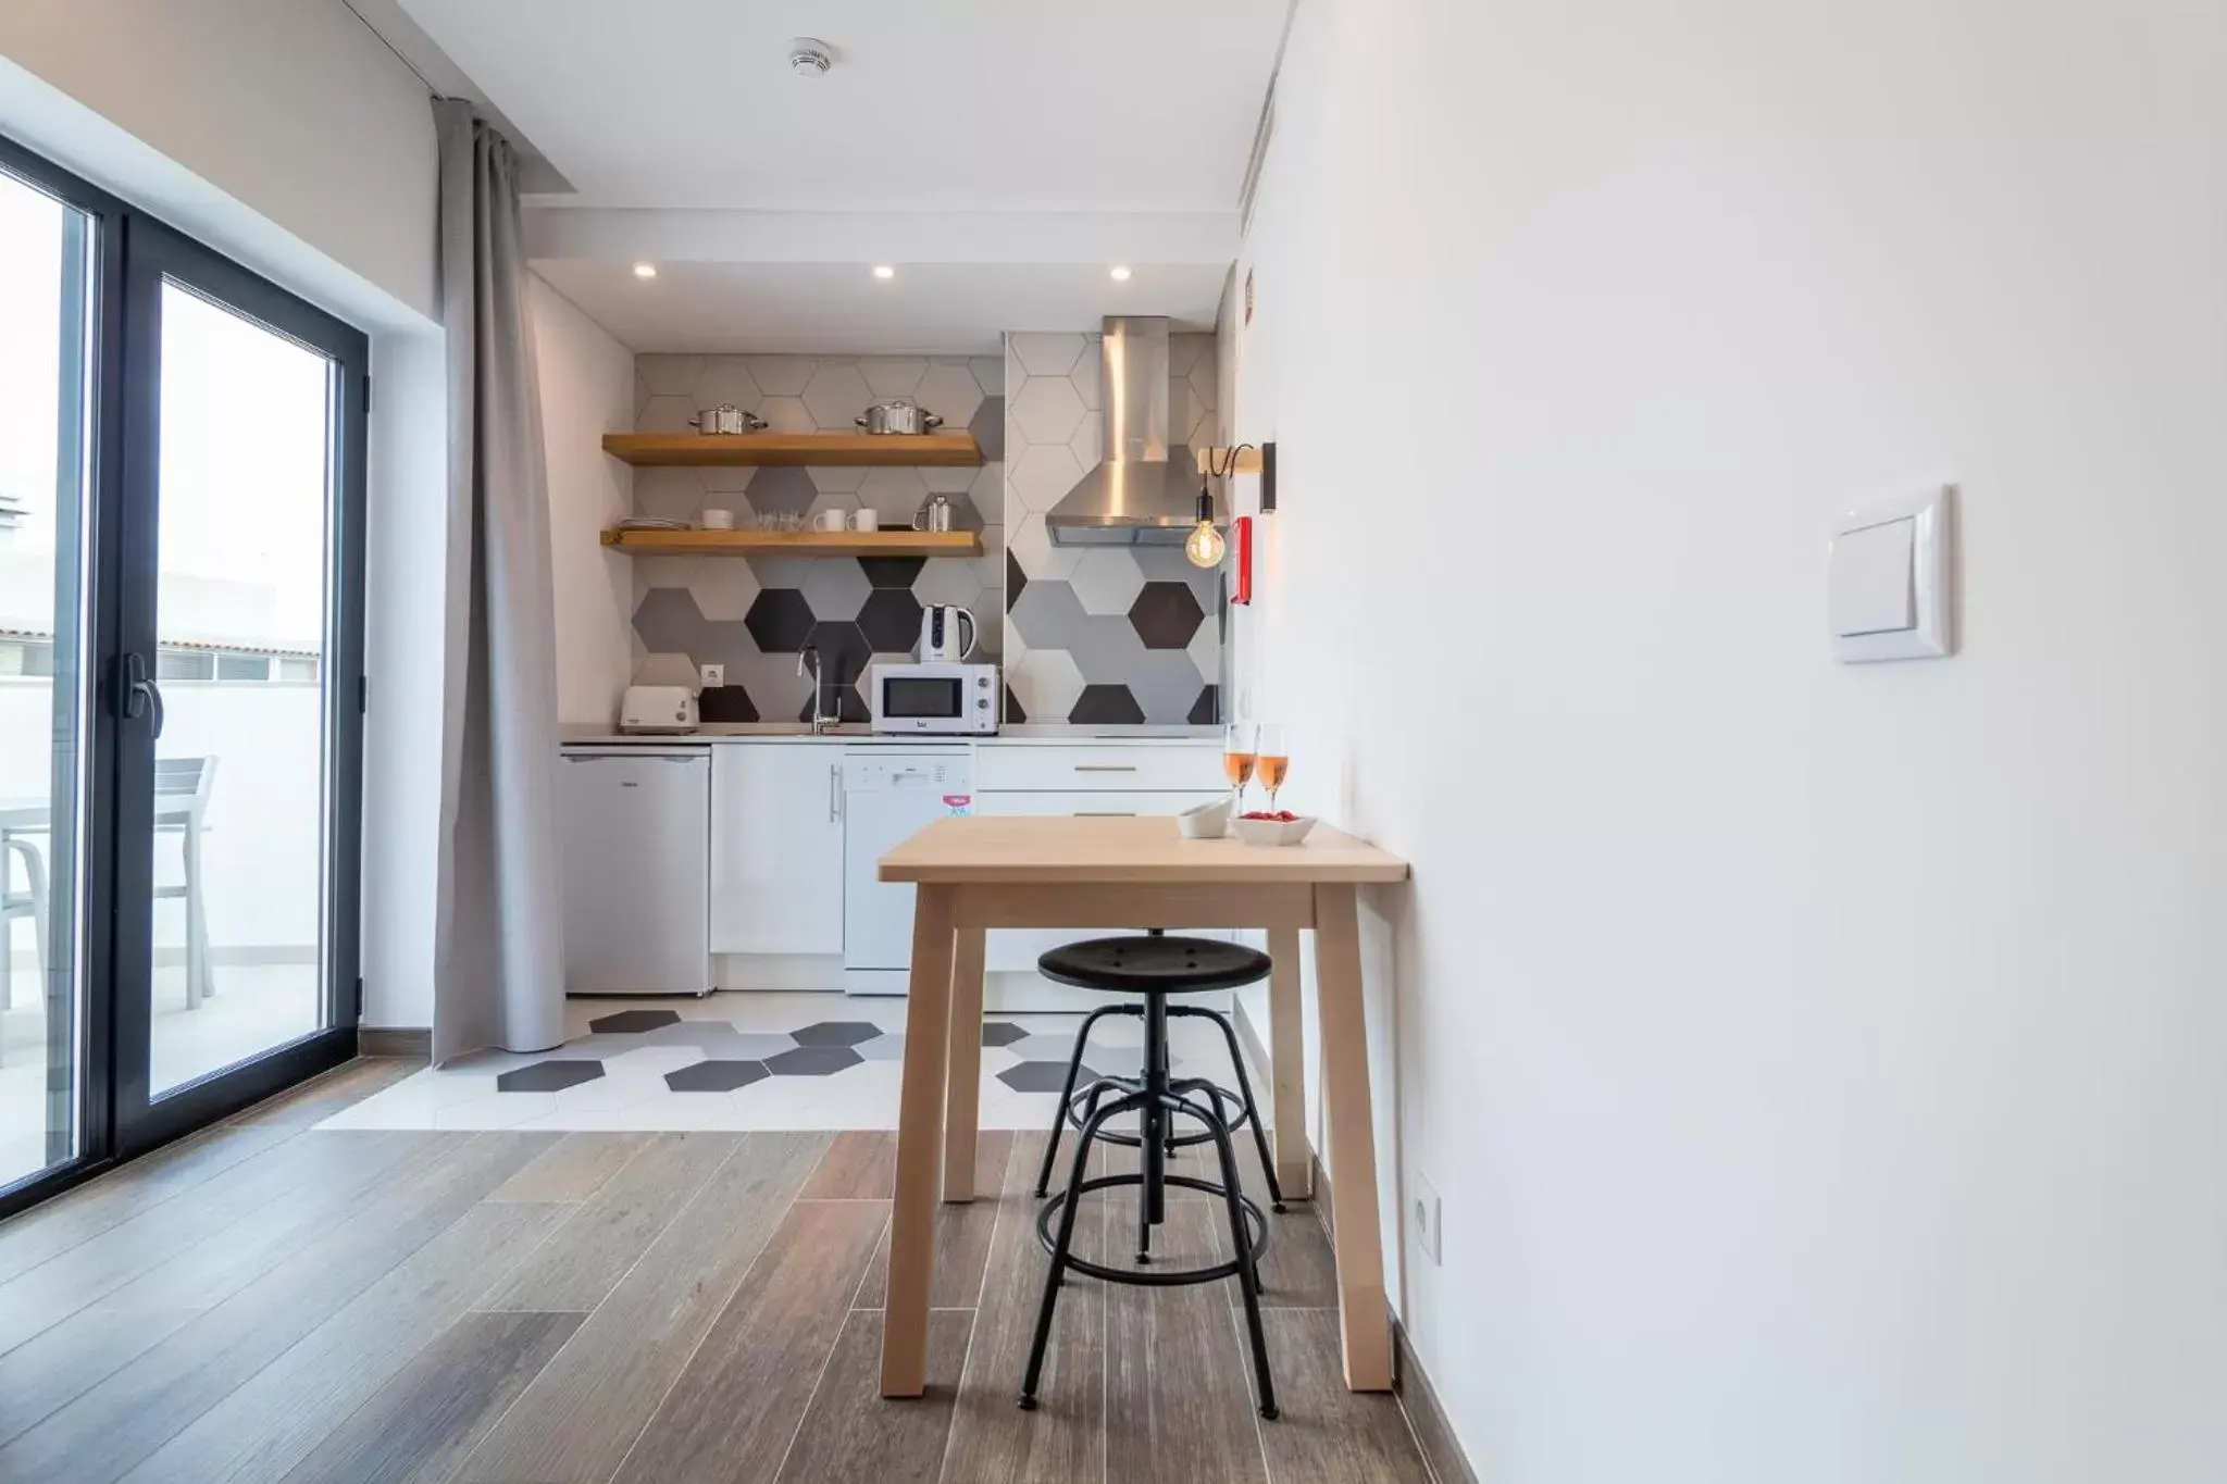
M 0 1213 L 354 1050 L 365 358 L 0 151 Z

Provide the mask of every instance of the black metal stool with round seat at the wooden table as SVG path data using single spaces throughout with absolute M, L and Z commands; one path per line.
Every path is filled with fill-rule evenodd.
M 1051 1270 L 1044 1275 L 1044 1304 L 1036 1315 L 1036 1342 L 1029 1346 L 1029 1373 L 1020 1384 L 1020 1406 L 1036 1406 L 1036 1384 L 1042 1377 L 1044 1346 L 1051 1339 L 1051 1315 L 1060 1302 L 1060 1286 L 1065 1284 L 1069 1270 L 1087 1273 L 1109 1284 L 1147 1286 L 1211 1284 L 1225 1277 L 1236 1277 L 1238 1290 L 1245 1295 L 1245 1324 L 1252 1337 L 1254 1382 L 1260 1395 L 1260 1415 L 1274 1417 L 1276 1388 L 1269 1382 L 1267 1335 L 1260 1328 L 1258 1268 L 1260 1253 L 1267 1248 L 1267 1217 L 1260 1215 L 1260 1208 L 1254 1201 L 1245 1199 L 1245 1190 L 1238 1179 L 1236 1150 L 1229 1144 L 1232 1121 L 1223 1117 L 1223 1101 L 1229 1099 L 1229 1092 L 1216 1088 L 1205 1077 L 1171 1077 L 1167 1066 L 1167 1021 L 1171 1015 L 1167 997 L 1198 990 L 1234 990 L 1243 983 L 1258 983 L 1269 970 L 1267 954 L 1238 943 L 1162 937 L 1154 932 L 1151 937 L 1067 943 L 1065 948 L 1053 948 L 1038 959 L 1036 968 L 1047 979 L 1058 983 L 1073 983 L 1085 990 L 1142 995 L 1145 1003 L 1138 1012 L 1145 1017 L 1145 1068 L 1140 1077 L 1100 1077 L 1080 1097 L 1076 1097 L 1076 1068 L 1082 1061 L 1082 1037 L 1076 1037 L 1076 1059 L 1067 1068 L 1067 1088 L 1060 1092 L 1060 1119 L 1071 1117 L 1078 1106 L 1085 1106 L 1087 1112 L 1076 1119 L 1080 1132 L 1076 1137 L 1076 1161 L 1067 1177 L 1067 1190 L 1047 1199 L 1036 1217 L 1036 1235 L 1044 1250 L 1051 1253 Z M 1091 1021 L 1096 1021 L 1098 1015 L 1102 1012 L 1093 1012 Z M 1085 1021 L 1085 1035 L 1089 1032 L 1091 1021 Z M 1238 1068 L 1238 1086 L 1245 1086 L 1245 1061 L 1236 1055 L 1234 1043 L 1232 1061 Z M 1252 1115 L 1249 1088 L 1245 1088 L 1243 1104 L 1245 1115 Z M 1125 1112 L 1138 1115 L 1138 1132 L 1107 1132 L 1107 1121 Z M 1205 1132 L 1176 1135 L 1176 1117 L 1198 1121 Z M 1269 1170 L 1269 1181 L 1274 1184 L 1274 1164 L 1267 1157 L 1258 1115 L 1254 1115 L 1254 1137 L 1263 1141 L 1260 1164 Z M 1056 1139 L 1058 1121 L 1053 1124 L 1053 1141 Z M 1100 1139 L 1107 1144 L 1134 1146 L 1140 1157 L 1140 1170 L 1136 1175 L 1085 1177 L 1091 1159 L 1091 1146 Z M 1167 1155 L 1171 1146 L 1180 1148 L 1185 1144 L 1205 1141 L 1214 1144 L 1214 1152 L 1220 1159 L 1220 1184 L 1167 1173 Z M 1051 1157 L 1047 1155 L 1047 1175 L 1049 1168 Z M 1042 1195 L 1044 1184 L 1047 1181 L 1040 1177 L 1038 1195 Z M 1076 1208 L 1082 1204 L 1082 1197 L 1091 1190 L 1111 1190 L 1122 1186 L 1136 1186 L 1140 1195 L 1136 1235 L 1138 1264 L 1151 1262 L 1151 1228 L 1167 1219 L 1167 1186 L 1203 1190 L 1205 1195 L 1223 1199 L 1229 1217 L 1232 1259 L 1209 1264 L 1205 1268 L 1151 1268 L 1138 1273 L 1076 1257 Z M 1060 1226 L 1058 1235 L 1051 1230 L 1053 1219 L 1058 1219 Z

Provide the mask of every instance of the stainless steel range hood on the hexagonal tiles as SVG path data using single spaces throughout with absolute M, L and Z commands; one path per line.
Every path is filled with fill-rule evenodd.
M 1051 545 L 1183 545 L 1198 525 L 1198 461 L 1167 443 L 1167 320 L 1109 318 L 1098 347 L 1105 463 L 1051 514 Z

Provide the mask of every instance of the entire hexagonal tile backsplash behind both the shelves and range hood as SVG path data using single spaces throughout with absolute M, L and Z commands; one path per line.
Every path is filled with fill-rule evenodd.
M 1209 334 L 1169 347 L 1169 434 L 1220 443 Z M 864 721 L 864 667 L 913 647 L 924 603 L 960 603 L 982 625 L 984 659 L 1007 665 L 1007 721 L 1220 719 L 1223 574 L 1176 547 L 1053 547 L 1042 512 L 1100 458 L 1098 334 L 1011 334 L 1004 356 L 639 356 L 637 427 L 686 427 L 735 403 L 777 429 L 851 432 L 871 398 L 913 396 L 967 427 L 982 469 L 655 469 L 635 481 L 641 514 L 695 518 L 873 509 L 904 525 L 931 492 L 982 532 L 980 558 L 635 561 L 635 679 L 693 683 L 728 667 L 750 710 L 811 705 L 795 650 L 828 665 L 837 710 Z

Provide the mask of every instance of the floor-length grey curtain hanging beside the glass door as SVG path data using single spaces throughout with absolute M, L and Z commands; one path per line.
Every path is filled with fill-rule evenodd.
M 432 1055 L 563 1041 L 557 650 L 517 156 L 434 100 L 448 329 L 448 647 Z

